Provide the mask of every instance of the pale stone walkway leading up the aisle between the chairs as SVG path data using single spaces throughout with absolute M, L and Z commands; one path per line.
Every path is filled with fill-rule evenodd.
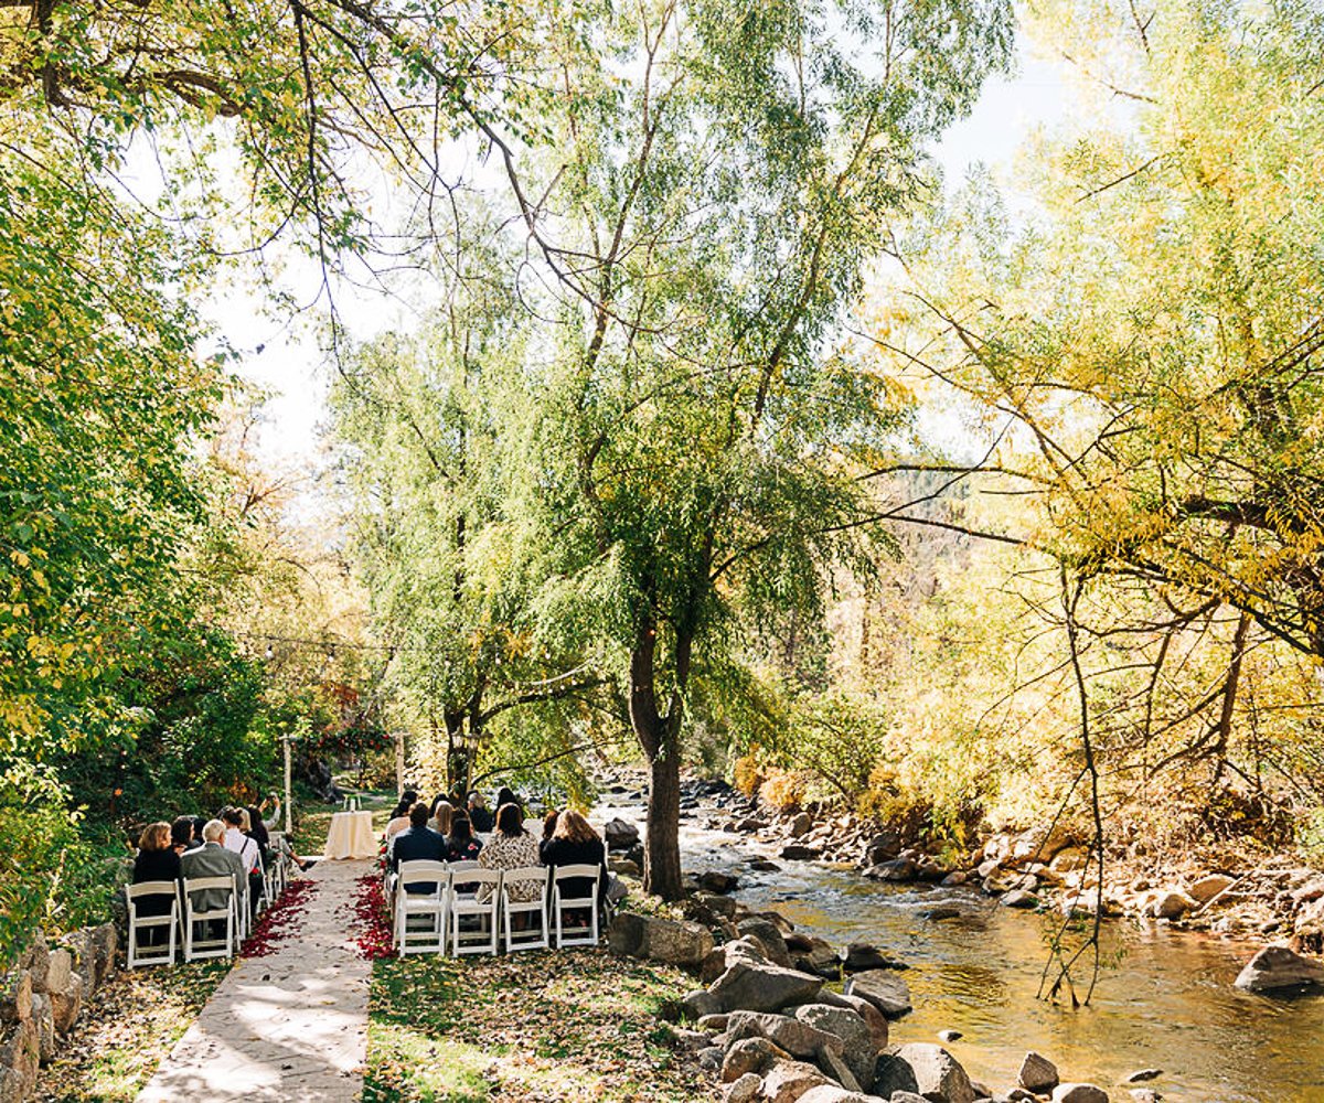
M 318 862 L 301 931 L 241 960 L 138 1103 L 352 1100 L 368 1051 L 368 976 L 347 908 L 371 862 Z

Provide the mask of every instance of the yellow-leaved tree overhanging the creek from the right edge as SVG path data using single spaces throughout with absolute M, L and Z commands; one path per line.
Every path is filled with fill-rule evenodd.
M 1022 222 L 988 187 L 953 205 L 900 351 L 1006 426 L 989 466 L 1074 579 L 1161 595 L 1156 629 L 1241 614 L 1226 739 L 1250 626 L 1324 658 L 1324 16 L 1035 12 L 1050 44 L 1095 44 L 1071 49 L 1084 87 L 1129 107 L 1031 150 Z

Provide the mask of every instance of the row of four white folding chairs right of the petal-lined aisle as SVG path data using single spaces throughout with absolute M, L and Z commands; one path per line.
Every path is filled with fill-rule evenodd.
M 504 934 L 506 951 L 547 949 L 552 943 L 551 919 L 556 922 L 556 945 L 597 945 L 598 866 L 530 866 L 516 870 L 483 870 L 477 862 L 413 861 L 401 862 L 391 883 L 393 896 L 396 944 L 401 956 L 410 952 L 496 953 L 498 936 Z M 588 895 L 564 896 L 568 881 L 589 882 Z M 531 900 L 518 899 L 518 885 L 534 883 L 538 894 Z M 428 886 L 409 892 L 409 886 Z M 568 927 L 567 912 L 584 911 L 589 919 L 580 927 Z M 524 930 L 515 931 L 511 918 L 528 916 Z M 429 918 L 426 927 L 410 930 L 410 918 Z M 475 919 L 477 924 L 463 920 Z M 486 922 L 483 922 L 486 920 Z M 498 922 L 502 924 L 498 928 Z

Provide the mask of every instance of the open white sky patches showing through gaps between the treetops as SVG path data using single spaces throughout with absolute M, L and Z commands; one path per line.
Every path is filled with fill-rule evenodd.
M 970 117 L 933 150 L 944 179 L 957 185 L 977 163 L 994 171 L 1008 167 L 1029 131 L 1064 118 L 1067 94 L 1062 64 L 1033 56 L 1022 40 L 1016 73 L 988 81 Z M 299 282 L 311 298 L 316 273 L 306 267 Z M 367 293 L 338 291 L 336 307 L 359 339 L 404 320 L 397 305 Z M 244 354 L 240 373 L 271 396 L 258 437 L 261 456 L 282 466 L 315 457 L 334 368 L 308 322 L 266 316 L 260 301 L 241 290 L 218 295 L 208 314 Z

